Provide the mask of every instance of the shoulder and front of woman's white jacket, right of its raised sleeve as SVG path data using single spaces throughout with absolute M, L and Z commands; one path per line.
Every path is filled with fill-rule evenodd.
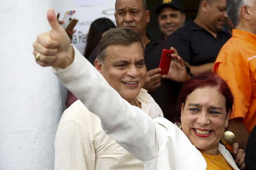
M 160 169 L 207 168 L 203 155 L 176 125 L 162 117 L 155 118 L 154 124 L 159 150 L 156 160 L 148 164 L 157 162 Z

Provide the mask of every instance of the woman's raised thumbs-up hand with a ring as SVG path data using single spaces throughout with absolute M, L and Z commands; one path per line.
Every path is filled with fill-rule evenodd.
M 36 62 L 43 67 L 54 66 L 64 69 L 73 62 L 74 52 L 71 40 L 60 26 L 54 10 L 48 10 L 47 19 L 52 30 L 38 35 L 34 42 L 33 54 Z

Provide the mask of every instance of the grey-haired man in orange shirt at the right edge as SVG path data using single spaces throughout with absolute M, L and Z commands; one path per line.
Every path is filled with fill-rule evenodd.
M 229 129 L 245 149 L 256 124 L 256 1 L 228 0 L 226 8 L 236 29 L 218 54 L 213 72 L 225 79 L 233 92 Z

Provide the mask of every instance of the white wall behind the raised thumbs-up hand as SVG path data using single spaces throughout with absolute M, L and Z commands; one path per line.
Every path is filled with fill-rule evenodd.
M 51 68 L 36 65 L 32 56 L 36 35 L 49 30 L 48 8 L 76 10 L 77 33 L 86 35 L 89 24 L 83 23 L 106 16 L 102 10 L 113 9 L 114 2 L 77 7 L 75 0 L 1 1 L 0 169 L 53 169 L 53 142 L 67 91 Z M 76 45 L 82 50 L 85 42 Z

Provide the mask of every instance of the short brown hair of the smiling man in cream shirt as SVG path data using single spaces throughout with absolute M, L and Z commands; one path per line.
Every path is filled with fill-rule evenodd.
M 109 45 L 131 45 L 134 42 L 139 42 L 144 52 L 142 37 L 137 32 L 127 27 L 111 28 L 109 31 L 105 32 L 105 35 L 101 38 L 101 41 L 98 44 L 97 59 L 100 62 L 104 61 L 106 57 L 105 49 Z

